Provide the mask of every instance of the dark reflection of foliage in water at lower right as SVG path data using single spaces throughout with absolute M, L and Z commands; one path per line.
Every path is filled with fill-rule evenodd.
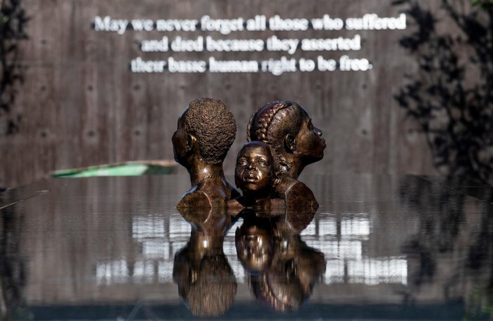
M 491 199 L 493 190 L 467 183 L 475 191 L 471 197 L 463 184 L 453 177 L 401 181 L 401 201 L 419 217 L 419 233 L 402 248 L 416 267 L 409 272 L 410 293 L 418 295 L 426 284 L 441 284 L 443 293 L 465 285 L 455 290 L 465 300 L 464 319 L 493 319 L 493 215 L 490 204 L 479 201 Z M 449 272 L 440 271 L 451 257 L 461 259 Z

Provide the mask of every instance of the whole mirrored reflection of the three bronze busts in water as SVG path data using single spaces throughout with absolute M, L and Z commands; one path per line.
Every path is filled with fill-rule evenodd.
M 236 278 L 223 252 L 226 232 L 238 218 L 235 236 L 239 261 L 249 275 L 253 296 L 277 311 L 296 310 L 325 272 L 324 254 L 310 248 L 299 233 L 316 210 L 289 210 L 282 216 L 243 209 L 179 209 L 191 224 L 186 246 L 175 255 L 173 279 L 195 316 L 217 317 L 233 304 Z M 211 295 L 213 293 L 213 295 Z

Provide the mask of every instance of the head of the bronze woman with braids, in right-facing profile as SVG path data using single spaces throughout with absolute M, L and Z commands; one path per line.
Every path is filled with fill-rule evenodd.
M 273 149 L 276 172 L 290 173 L 292 166 L 301 170 L 324 157 L 325 140 L 312 124 L 310 115 L 295 102 L 275 101 L 260 107 L 250 119 L 248 141 L 258 140 Z

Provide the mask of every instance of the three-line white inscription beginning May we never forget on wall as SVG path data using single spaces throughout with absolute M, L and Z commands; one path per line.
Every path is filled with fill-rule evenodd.
M 202 32 L 189 37 L 183 35 L 164 35 L 159 39 L 140 41 L 139 49 L 149 52 L 261 52 L 275 51 L 284 55 L 265 60 L 217 60 L 214 57 L 195 60 L 178 60 L 168 56 L 164 60 L 147 60 L 138 56 L 131 60 L 132 72 L 270 72 L 280 75 L 284 72 L 311 71 L 367 71 L 373 68 L 367 58 L 351 58 L 348 54 L 338 59 L 328 59 L 322 55 L 303 58 L 290 58 L 298 50 L 302 52 L 320 51 L 359 51 L 362 49 L 362 36 L 358 33 L 349 36 L 331 36 L 327 38 L 308 36 L 280 38 L 270 35 L 266 39 L 243 37 L 242 39 L 220 39 L 204 32 L 218 32 L 227 35 L 242 31 L 296 31 L 309 30 L 404 30 L 406 14 L 395 17 L 380 17 L 367 13 L 361 17 L 348 17 L 345 20 L 324 14 L 317 18 L 283 18 L 279 15 L 266 17 L 255 15 L 252 18 L 215 19 L 203 15 L 200 19 L 115 19 L 111 16 L 94 17 L 95 31 L 113 32 L 119 35 L 127 30 L 138 32 Z

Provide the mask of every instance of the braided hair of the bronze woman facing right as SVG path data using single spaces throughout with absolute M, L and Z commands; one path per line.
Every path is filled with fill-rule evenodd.
M 286 173 L 290 164 L 283 157 L 284 138 L 296 136 L 301 127 L 301 107 L 292 101 L 274 101 L 255 111 L 247 126 L 247 140 L 261 141 L 273 149 L 276 172 Z

